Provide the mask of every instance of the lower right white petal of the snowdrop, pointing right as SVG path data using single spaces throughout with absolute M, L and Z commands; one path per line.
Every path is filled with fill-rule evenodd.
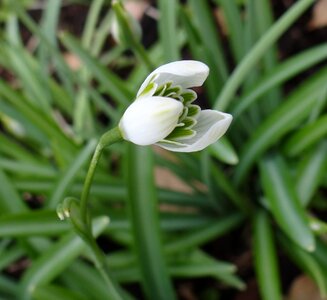
M 194 137 L 176 144 L 159 142 L 157 145 L 175 152 L 200 151 L 223 136 L 232 119 L 233 117 L 230 114 L 210 109 L 203 110 L 200 112 L 197 124 L 192 128 L 196 131 Z

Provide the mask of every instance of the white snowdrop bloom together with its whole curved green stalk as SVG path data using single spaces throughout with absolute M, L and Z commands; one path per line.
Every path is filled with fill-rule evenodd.
M 118 3 L 117 1 L 114 3 Z M 201 110 L 193 104 L 209 68 L 201 62 L 172 62 L 154 70 L 141 85 L 135 101 L 126 109 L 118 127 L 104 133 L 93 154 L 84 181 L 81 200 L 67 198 L 58 207 L 60 219 L 69 218 L 75 232 L 90 246 L 100 274 L 107 282 L 111 299 L 122 299 L 106 270 L 106 262 L 93 238 L 88 199 L 93 176 L 105 147 L 122 139 L 137 145 L 156 144 L 176 152 L 200 151 L 216 142 L 228 129 L 232 116 Z

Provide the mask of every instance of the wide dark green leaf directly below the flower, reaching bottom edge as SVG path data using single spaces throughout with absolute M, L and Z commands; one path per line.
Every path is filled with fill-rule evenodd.
M 175 293 L 162 255 L 151 151 L 149 147 L 128 144 L 130 220 L 147 297 L 172 300 Z

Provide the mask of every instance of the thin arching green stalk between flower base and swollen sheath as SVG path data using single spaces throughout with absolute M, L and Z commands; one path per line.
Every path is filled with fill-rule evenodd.
M 120 133 L 120 130 L 118 127 L 115 127 L 109 131 L 107 131 L 105 134 L 103 134 L 99 140 L 99 143 L 97 147 L 95 148 L 89 170 L 86 174 L 86 178 L 84 181 L 82 196 L 81 196 L 81 203 L 80 203 L 80 212 L 81 212 L 81 219 L 84 224 L 87 224 L 87 227 L 90 229 L 90 222 L 88 221 L 88 215 L 87 215 L 87 204 L 90 194 L 90 187 L 91 183 L 94 177 L 94 172 L 96 170 L 96 167 L 98 165 L 99 159 L 101 157 L 101 154 L 103 152 L 103 149 L 107 146 L 110 146 L 116 142 L 119 142 L 122 140 L 122 136 Z

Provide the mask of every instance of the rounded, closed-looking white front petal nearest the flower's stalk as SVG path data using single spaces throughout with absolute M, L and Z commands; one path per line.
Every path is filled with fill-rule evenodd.
M 125 140 L 151 145 L 174 130 L 182 111 L 183 104 L 172 98 L 141 98 L 126 109 L 119 128 Z

